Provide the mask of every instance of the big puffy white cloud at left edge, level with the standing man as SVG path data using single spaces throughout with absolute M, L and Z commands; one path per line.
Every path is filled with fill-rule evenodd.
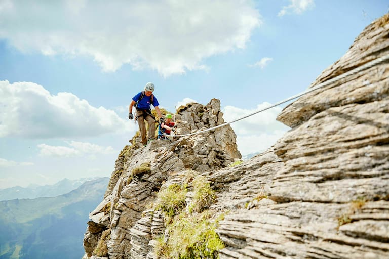
M 91 137 L 134 127 L 112 110 L 32 82 L 0 81 L 0 137 Z

